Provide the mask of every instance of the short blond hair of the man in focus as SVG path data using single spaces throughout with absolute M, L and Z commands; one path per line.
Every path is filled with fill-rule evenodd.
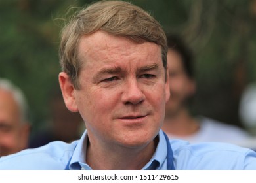
M 125 1 L 99 1 L 81 9 L 72 16 L 62 29 L 60 42 L 60 65 L 79 89 L 79 67 L 77 57 L 82 35 L 96 31 L 127 37 L 134 42 L 154 42 L 161 46 L 165 76 L 167 69 L 167 41 L 161 25 L 148 12 Z

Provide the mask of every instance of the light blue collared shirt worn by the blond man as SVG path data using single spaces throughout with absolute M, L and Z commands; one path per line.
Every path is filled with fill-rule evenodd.
M 167 169 L 167 142 L 163 131 L 158 134 L 156 152 L 143 169 Z M 51 142 L 40 148 L 23 150 L 0 158 L 0 169 L 91 169 L 86 163 L 87 132 L 80 140 L 67 144 Z M 256 152 L 232 144 L 200 143 L 170 140 L 175 169 L 254 169 Z M 108 155 L 106 154 L 106 157 Z

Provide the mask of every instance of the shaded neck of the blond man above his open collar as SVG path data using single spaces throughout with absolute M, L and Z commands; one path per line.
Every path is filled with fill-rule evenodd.
M 140 148 L 110 146 L 91 143 L 87 147 L 87 164 L 95 170 L 125 170 L 142 169 L 152 158 L 158 137 L 148 145 Z

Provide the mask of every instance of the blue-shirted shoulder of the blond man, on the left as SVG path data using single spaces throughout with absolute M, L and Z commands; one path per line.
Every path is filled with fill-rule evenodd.
M 39 148 L 22 150 L 0 158 L 0 169 L 64 169 L 72 156 L 77 141 L 67 144 L 50 142 Z

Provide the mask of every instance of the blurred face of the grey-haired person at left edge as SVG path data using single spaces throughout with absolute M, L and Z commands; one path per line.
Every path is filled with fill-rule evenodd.
M 0 156 L 26 148 L 28 129 L 20 121 L 20 110 L 12 94 L 0 89 Z

